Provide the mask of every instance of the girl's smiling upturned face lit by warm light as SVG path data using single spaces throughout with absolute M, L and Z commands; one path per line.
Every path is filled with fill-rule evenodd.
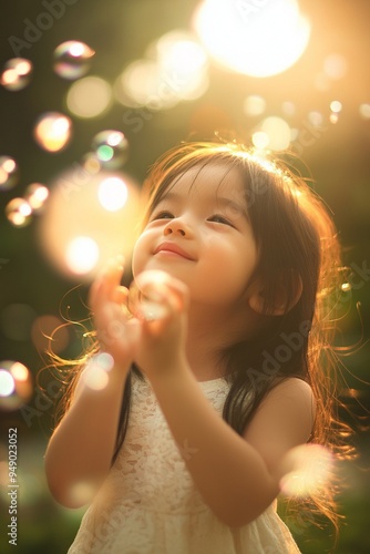
M 240 175 L 220 163 L 193 166 L 168 186 L 133 254 L 134 276 L 162 269 L 209 306 L 237 306 L 256 265 Z

